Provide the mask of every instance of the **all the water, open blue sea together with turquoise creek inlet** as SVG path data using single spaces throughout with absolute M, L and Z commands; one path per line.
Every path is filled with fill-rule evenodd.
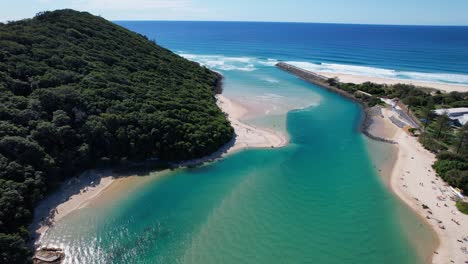
M 224 94 L 253 109 L 243 121 L 290 144 L 151 172 L 73 212 L 41 240 L 65 248 L 66 263 L 424 263 L 432 254 L 433 234 L 378 175 L 390 150 L 359 132 L 360 107 L 274 64 L 468 84 L 467 27 L 117 23 L 221 72 Z

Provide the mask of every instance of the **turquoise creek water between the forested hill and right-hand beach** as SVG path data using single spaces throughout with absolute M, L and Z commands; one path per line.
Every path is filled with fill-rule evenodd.
M 65 247 L 69 263 L 421 262 L 356 130 L 360 109 L 308 89 L 321 104 L 289 112 L 289 146 L 153 173 L 43 242 Z

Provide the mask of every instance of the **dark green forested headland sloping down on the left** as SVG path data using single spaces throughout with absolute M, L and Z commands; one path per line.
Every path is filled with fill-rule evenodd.
M 102 160 L 198 158 L 233 129 L 219 76 L 73 10 L 0 23 L 0 262 L 27 263 L 34 205 Z

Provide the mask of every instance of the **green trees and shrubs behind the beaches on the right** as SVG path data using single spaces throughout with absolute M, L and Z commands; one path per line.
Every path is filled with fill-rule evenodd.
M 468 194 L 468 123 L 461 126 L 447 115 L 438 116 L 433 112 L 436 109 L 468 107 L 468 92 L 441 93 L 406 84 L 341 83 L 333 78 L 328 83 L 350 94 L 358 91 L 371 94 L 371 97 L 360 97 L 368 106 L 381 104 L 379 97 L 400 99 L 422 125 L 419 136 L 421 144 L 437 154 L 433 165 L 437 174 L 451 186 Z M 465 208 L 466 212 L 467 205 L 459 204 L 459 208 Z

